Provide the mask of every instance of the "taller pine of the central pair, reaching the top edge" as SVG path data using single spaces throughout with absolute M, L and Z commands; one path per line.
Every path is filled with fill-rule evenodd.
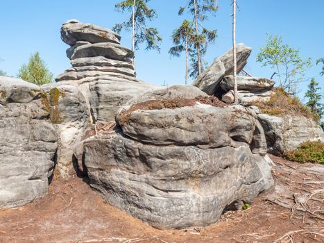
M 191 74 L 196 78 L 203 72 L 203 56 L 207 51 L 207 44 L 214 43 L 216 40 L 216 29 L 210 30 L 203 26 L 203 22 L 208 19 L 207 13 L 215 14 L 218 10 L 216 0 L 189 0 L 186 7 L 181 7 L 178 14 L 182 15 L 185 9 L 188 8 L 191 15 L 194 16 L 194 31 L 193 37 L 194 52 L 191 53 Z

